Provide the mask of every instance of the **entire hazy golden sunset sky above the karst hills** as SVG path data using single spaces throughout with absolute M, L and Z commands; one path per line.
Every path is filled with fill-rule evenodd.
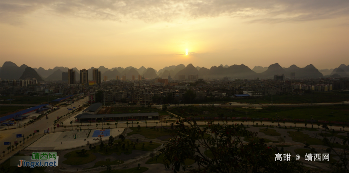
M 349 0 L 1 0 L 0 66 L 349 64 Z

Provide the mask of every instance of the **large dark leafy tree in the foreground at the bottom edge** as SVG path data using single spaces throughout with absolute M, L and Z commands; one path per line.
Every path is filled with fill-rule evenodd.
M 188 123 L 190 128 L 185 128 L 184 123 Z M 184 172 L 194 172 L 197 169 L 185 166 L 186 159 L 194 160 L 199 168 L 204 168 L 202 171 L 210 173 L 257 173 L 261 170 L 268 170 L 270 173 L 303 172 L 302 163 L 294 158 L 290 162 L 275 162 L 275 148 L 265 146 L 264 140 L 257 138 L 257 133 L 249 132 L 245 128 L 211 123 L 208 127 L 201 128 L 195 121 L 180 119 L 174 129 L 174 137 L 160 149 L 164 165 L 167 169 L 173 165 L 174 173 L 180 167 Z M 214 135 L 204 137 L 209 131 Z M 249 135 L 249 143 L 243 144 L 238 137 L 240 135 Z M 202 149 L 206 152 L 202 152 Z M 207 152 L 211 153 L 210 158 L 205 155 Z

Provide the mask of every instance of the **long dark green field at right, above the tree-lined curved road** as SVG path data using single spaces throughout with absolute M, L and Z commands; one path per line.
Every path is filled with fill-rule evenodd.
M 224 117 L 247 117 L 250 118 L 279 118 L 283 119 L 311 119 L 314 120 L 327 120 L 327 121 L 349 121 L 349 107 L 348 105 L 336 104 L 336 105 L 324 105 L 324 106 L 302 106 L 302 107 L 281 107 L 281 106 L 268 106 L 262 109 L 249 109 L 243 107 L 214 107 L 214 106 L 181 106 L 173 107 L 169 111 L 179 115 L 182 115 L 182 110 L 187 113 L 197 114 L 196 117 L 218 117 L 223 115 Z M 209 114 L 202 114 L 203 111 L 208 111 Z M 311 117 L 312 116 L 312 117 Z M 241 120 L 234 120 L 241 121 Z M 255 120 L 255 123 L 260 123 L 260 120 Z M 271 121 L 271 120 L 269 120 Z M 245 122 L 247 122 L 245 120 Z M 252 120 L 250 122 L 252 124 Z M 304 123 L 304 122 L 298 122 Z M 282 121 L 279 124 L 283 125 Z M 259 124 L 260 125 L 260 124 Z M 277 125 L 277 120 L 274 120 L 274 125 Z M 297 124 L 296 124 L 297 125 Z M 293 126 L 293 125 L 292 125 Z M 308 122 L 308 127 L 311 124 Z M 317 125 L 314 124 L 314 128 Z

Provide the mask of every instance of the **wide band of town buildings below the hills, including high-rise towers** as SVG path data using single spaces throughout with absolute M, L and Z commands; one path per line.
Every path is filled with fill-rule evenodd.
M 275 94 L 300 94 L 308 91 L 329 92 L 332 90 L 348 90 L 349 78 L 322 78 L 322 79 L 287 79 L 283 75 L 274 76 L 268 80 L 247 79 L 222 79 L 198 80 L 197 75 L 188 75 L 187 79 L 144 79 L 142 76 L 132 77 L 132 80 L 116 76 L 115 80 L 104 77 L 101 72 L 93 69 L 93 81 L 88 80 L 88 71 L 80 71 L 80 81 L 76 83 L 75 71 L 69 69 L 62 73 L 62 79 L 67 81 L 43 81 L 37 83 L 32 80 L 2 80 L 0 93 L 26 94 L 35 92 L 70 94 L 89 94 L 89 101 L 96 102 L 97 91 L 103 91 L 103 101 L 106 103 L 182 103 L 187 98 L 188 89 L 194 94 L 192 100 L 205 100 L 207 98 L 233 98 L 239 96 L 261 97 Z M 64 78 L 63 78 L 64 77 Z M 181 78 L 184 78 L 181 79 Z M 34 85 L 29 85 L 34 84 Z M 11 89 L 8 89 L 11 88 Z

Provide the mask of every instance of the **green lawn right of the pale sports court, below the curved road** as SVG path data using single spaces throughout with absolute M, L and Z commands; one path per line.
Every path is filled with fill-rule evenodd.
M 133 130 L 130 133 L 127 133 L 127 135 L 133 135 L 133 134 L 140 134 L 143 135 L 145 138 L 149 138 L 149 139 L 155 139 L 158 138 L 160 136 L 168 136 L 170 135 L 169 130 L 158 130 L 158 129 L 151 129 L 151 128 L 146 128 L 146 127 L 141 127 L 140 130 L 138 130 L 137 127 L 130 127 L 131 130 Z

